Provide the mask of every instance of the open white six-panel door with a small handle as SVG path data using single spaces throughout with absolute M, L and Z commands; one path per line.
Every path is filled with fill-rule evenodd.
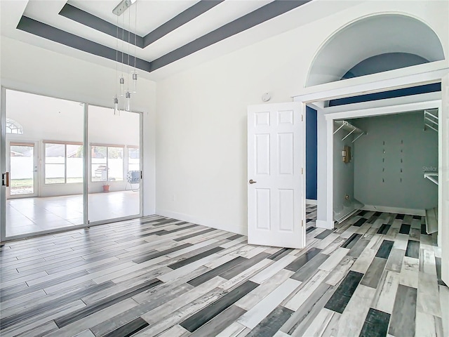
M 248 243 L 305 246 L 301 103 L 248 107 Z

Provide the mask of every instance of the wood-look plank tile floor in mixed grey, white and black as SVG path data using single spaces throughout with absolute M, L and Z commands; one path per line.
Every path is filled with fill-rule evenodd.
M 0 334 L 448 336 L 423 218 L 360 211 L 323 230 L 307 213 L 305 249 L 161 216 L 7 243 Z

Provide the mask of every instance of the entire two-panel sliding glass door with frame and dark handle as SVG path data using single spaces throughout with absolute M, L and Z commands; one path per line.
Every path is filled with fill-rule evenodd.
M 140 113 L 1 92 L 2 241 L 141 216 Z

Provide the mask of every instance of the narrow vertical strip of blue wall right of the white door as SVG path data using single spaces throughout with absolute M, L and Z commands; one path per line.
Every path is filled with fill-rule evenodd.
M 316 110 L 306 107 L 306 199 L 316 200 Z

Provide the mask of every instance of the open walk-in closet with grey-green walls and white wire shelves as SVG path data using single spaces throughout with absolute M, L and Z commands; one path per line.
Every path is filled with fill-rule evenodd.
M 358 209 L 424 216 L 437 231 L 438 110 L 334 121 L 334 219 Z

